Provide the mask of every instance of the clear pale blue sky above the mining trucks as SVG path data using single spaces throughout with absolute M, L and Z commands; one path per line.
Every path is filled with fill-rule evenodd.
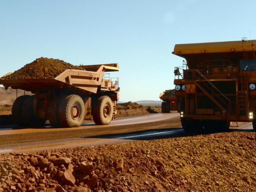
M 0 76 L 38 57 L 119 63 L 120 100 L 174 88 L 175 44 L 256 39 L 256 1 L 0 0 Z

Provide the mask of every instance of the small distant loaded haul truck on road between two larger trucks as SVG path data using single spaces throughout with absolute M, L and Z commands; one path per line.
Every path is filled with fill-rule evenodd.
M 178 100 L 173 94 L 173 90 L 165 90 L 160 93 L 159 98 L 163 100 L 161 108 L 162 113 L 170 113 L 170 111 L 180 112 L 180 100 Z

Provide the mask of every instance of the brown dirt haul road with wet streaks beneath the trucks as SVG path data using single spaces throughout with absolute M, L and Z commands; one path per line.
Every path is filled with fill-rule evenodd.
M 232 126 L 236 126 L 233 123 Z M 251 123 L 238 123 L 233 130 L 251 130 Z M 149 114 L 114 120 L 108 126 L 86 122 L 78 128 L 0 127 L 0 153 L 42 151 L 69 147 L 116 144 L 136 140 L 163 139 L 186 136 L 179 113 Z

